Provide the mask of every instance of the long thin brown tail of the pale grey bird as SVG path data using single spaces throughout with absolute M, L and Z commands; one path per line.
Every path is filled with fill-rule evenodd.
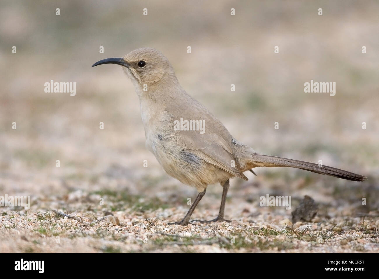
M 249 162 L 250 163 L 250 162 Z M 330 175 L 334 177 L 339 177 L 352 181 L 363 181 L 367 179 L 363 175 L 359 175 L 352 172 L 347 172 L 346 170 L 336 169 L 334 167 L 322 166 L 319 167 L 318 164 L 292 160 L 287 158 L 268 156 L 262 154 L 253 154 L 252 162 L 256 167 L 293 167 L 302 170 L 309 170 L 310 172 L 316 172 L 324 175 Z

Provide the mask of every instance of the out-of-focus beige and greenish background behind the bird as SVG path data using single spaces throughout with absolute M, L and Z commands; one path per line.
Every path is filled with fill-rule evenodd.
M 168 177 L 145 148 L 132 83 L 119 66 L 91 68 L 154 47 L 171 61 L 182 87 L 236 139 L 260 153 L 323 160 L 369 177 L 357 183 L 256 169 L 257 177 L 246 173 L 247 182 L 232 180 L 228 218 L 268 210 L 257 206 L 266 193 L 292 195 L 293 202 L 309 194 L 345 214 L 373 212 L 379 200 L 378 11 L 377 1 L 346 0 L 1 1 L 0 195 L 31 195 L 31 210 L 38 211 L 73 207 L 75 197 L 91 193 L 128 193 L 141 204 L 185 212 L 196 191 Z M 304 93 L 311 79 L 336 82 L 336 95 Z M 76 82 L 76 95 L 45 93 L 50 80 Z M 215 216 L 221 192 L 208 187 L 197 212 L 206 208 Z

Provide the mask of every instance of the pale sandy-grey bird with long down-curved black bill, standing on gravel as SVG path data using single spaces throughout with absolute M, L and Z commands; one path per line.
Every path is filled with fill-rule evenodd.
M 229 181 L 234 177 L 247 180 L 244 172 L 255 174 L 255 167 L 292 167 L 352 181 L 366 179 L 334 167 L 260 154 L 239 142 L 181 87 L 171 63 L 157 49 L 139 48 L 122 58 L 97 61 L 92 67 L 103 64 L 121 65 L 132 81 L 139 98 L 146 147 L 168 175 L 198 192 L 184 218 L 169 225 L 188 225 L 207 186 L 216 183 L 223 188 L 221 205 L 218 216 L 209 222 L 230 221 L 224 219 Z

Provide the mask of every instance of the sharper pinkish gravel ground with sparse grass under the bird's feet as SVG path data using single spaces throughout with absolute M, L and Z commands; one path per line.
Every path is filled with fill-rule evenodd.
M 304 180 L 296 182 L 294 192 L 304 192 Z M 0 252 L 379 252 L 378 211 L 362 212 L 359 201 L 333 205 L 306 191 L 319 197 L 318 214 L 311 222 L 293 224 L 294 207 L 261 207 L 256 197 L 264 191 L 263 183 L 243 184 L 233 185 L 237 189 L 231 188 L 227 200 L 231 222 L 193 221 L 188 226 L 168 225 L 188 210 L 187 198 L 179 194 L 164 198 L 164 192 L 157 192 L 158 198 L 127 194 L 127 189 L 39 194 L 32 196 L 30 210 L 1 212 Z M 193 218 L 213 219 L 221 191 L 209 187 Z M 301 195 L 292 198 L 297 206 Z

